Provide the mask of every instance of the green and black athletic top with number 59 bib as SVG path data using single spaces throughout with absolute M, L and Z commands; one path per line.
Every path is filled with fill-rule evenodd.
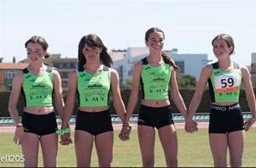
M 241 86 L 241 69 L 234 63 L 234 70 L 223 71 L 218 68 L 218 62 L 212 64 L 212 76 L 208 80 L 212 103 L 239 102 Z

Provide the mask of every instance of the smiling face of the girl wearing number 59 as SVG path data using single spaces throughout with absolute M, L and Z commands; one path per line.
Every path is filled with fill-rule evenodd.
M 222 59 L 224 57 L 230 56 L 233 47 L 228 46 L 227 42 L 223 39 L 216 39 L 213 42 L 213 53 L 217 59 Z

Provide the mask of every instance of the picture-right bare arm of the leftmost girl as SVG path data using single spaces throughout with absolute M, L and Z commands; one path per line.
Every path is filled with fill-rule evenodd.
M 54 90 L 55 90 L 55 107 L 58 114 L 63 119 L 63 96 L 62 96 L 62 87 L 61 87 L 61 76 L 58 71 L 53 70 L 53 81 L 54 81 Z

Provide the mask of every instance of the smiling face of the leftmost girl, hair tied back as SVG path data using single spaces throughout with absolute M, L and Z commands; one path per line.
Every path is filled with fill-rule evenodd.
M 38 43 L 29 42 L 26 47 L 27 59 L 30 61 L 42 60 L 47 51 Z

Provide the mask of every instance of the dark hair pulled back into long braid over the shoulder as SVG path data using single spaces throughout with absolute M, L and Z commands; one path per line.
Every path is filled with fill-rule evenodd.
M 148 29 L 148 31 L 146 31 L 146 33 L 145 33 L 145 41 L 146 42 L 148 42 L 149 35 L 152 32 L 161 32 L 161 33 L 163 33 L 164 38 L 165 38 L 164 31 L 162 31 L 159 27 L 152 27 L 152 28 Z M 172 59 L 171 56 L 167 55 L 164 51 L 162 51 L 161 55 L 162 55 L 162 58 L 164 59 L 164 61 L 166 63 L 171 64 L 173 66 L 174 70 L 178 70 L 179 71 L 178 66 L 175 64 L 175 62 L 174 62 L 174 60 Z

